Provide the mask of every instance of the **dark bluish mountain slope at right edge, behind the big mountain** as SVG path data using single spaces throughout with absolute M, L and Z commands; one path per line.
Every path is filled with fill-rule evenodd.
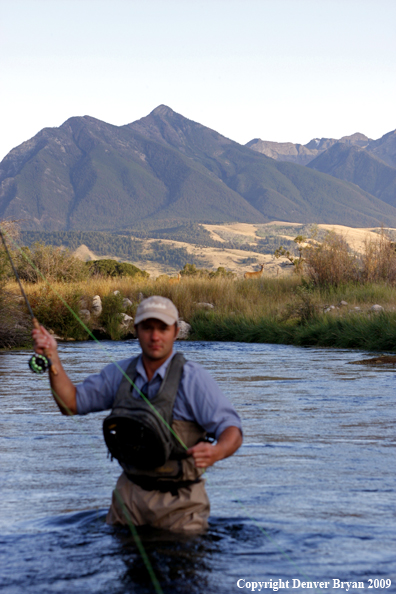
M 367 150 L 338 142 L 307 167 L 350 181 L 396 207 L 396 169 Z

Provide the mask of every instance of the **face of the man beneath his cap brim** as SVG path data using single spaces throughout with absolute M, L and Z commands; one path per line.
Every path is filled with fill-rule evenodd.
M 161 320 L 150 318 L 136 326 L 136 334 L 139 339 L 143 354 L 152 361 L 164 361 L 170 356 L 173 343 L 179 333 L 178 328 L 168 326 Z

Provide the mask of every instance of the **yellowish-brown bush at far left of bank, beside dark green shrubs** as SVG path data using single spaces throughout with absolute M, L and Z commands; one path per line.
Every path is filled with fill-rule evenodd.
M 37 283 L 43 277 L 49 282 L 76 282 L 86 279 L 89 274 L 84 262 L 69 250 L 42 243 L 21 248 L 16 268 L 21 280 L 30 283 Z

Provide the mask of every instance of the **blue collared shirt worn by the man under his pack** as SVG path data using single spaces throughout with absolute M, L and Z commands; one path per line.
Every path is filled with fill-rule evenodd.
M 143 388 L 149 399 L 157 394 L 173 355 L 174 353 L 156 370 L 150 382 L 147 381 L 142 357 L 139 357 L 135 385 L 139 390 Z M 117 365 L 126 371 L 130 362 L 131 359 L 124 359 Z M 78 414 L 85 415 L 113 407 L 123 377 L 117 365 L 107 365 L 100 373 L 88 376 L 84 382 L 77 385 Z M 141 398 L 135 389 L 132 396 Z M 186 361 L 184 364 L 173 408 L 173 419 L 194 421 L 208 433 L 213 433 L 216 439 L 227 427 L 238 427 L 242 431 L 241 420 L 229 400 L 211 375 L 201 365 L 192 361 Z

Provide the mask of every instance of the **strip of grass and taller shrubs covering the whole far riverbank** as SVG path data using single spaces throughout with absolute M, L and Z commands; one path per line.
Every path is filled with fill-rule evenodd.
M 361 255 L 335 233 L 307 242 L 300 255 L 297 273 L 283 278 L 245 280 L 224 269 L 209 272 L 186 265 L 179 278 L 162 275 L 155 280 L 139 271 L 117 276 L 112 268 L 109 275 L 92 265 L 91 270 L 79 268 L 79 263 L 81 278 L 49 275 L 47 283 L 25 275 L 24 287 L 40 322 L 68 339 L 88 338 L 86 328 L 99 338 L 130 337 L 133 323 L 127 319 L 134 317 L 143 297 L 159 294 L 174 301 L 180 317 L 191 325 L 193 340 L 396 350 L 396 252 L 384 233 L 367 241 Z M 16 254 L 17 261 L 19 257 L 23 254 Z M 1 262 L 0 345 L 26 344 L 25 306 L 7 263 Z M 97 295 L 100 312 L 93 307 Z M 16 323 L 21 327 L 15 327 L 15 338 L 6 340 Z

